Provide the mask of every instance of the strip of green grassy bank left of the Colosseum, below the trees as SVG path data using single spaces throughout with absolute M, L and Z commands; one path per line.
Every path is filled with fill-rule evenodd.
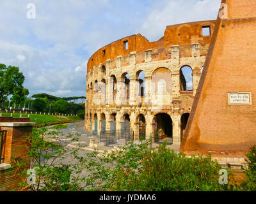
M 21 114 L 22 117 L 28 117 L 28 114 Z M 3 117 L 10 117 L 11 113 L 2 113 Z M 20 117 L 19 113 L 13 113 L 13 117 Z M 76 122 L 81 120 L 76 116 L 60 116 L 60 115 L 29 115 L 30 121 L 36 123 L 36 127 L 49 126 L 52 124 L 61 124 L 65 122 Z

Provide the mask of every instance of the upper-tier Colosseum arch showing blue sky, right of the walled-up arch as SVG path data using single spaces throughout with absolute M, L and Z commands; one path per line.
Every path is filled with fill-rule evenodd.
M 193 91 L 193 73 L 190 66 L 180 68 L 180 91 Z

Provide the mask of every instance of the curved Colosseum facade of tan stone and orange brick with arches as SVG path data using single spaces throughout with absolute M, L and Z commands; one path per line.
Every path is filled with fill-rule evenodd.
M 85 129 L 128 130 L 134 140 L 158 132 L 179 147 L 215 22 L 169 25 L 158 41 L 136 34 L 95 52 L 87 67 Z

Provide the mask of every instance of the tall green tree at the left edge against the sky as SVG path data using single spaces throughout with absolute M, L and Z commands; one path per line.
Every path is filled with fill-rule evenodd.
M 28 94 L 28 89 L 23 90 L 23 83 L 25 77 L 22 72 L 19 71 L 19 67 L 8 66 L 5 64 L 0 64 L 0 103 L 6 101 L 8 96 L 14 94 L 14 97 L 17 97 L 17 94 L 22 94 L 20 98 L 23 97 L 23 94 Z

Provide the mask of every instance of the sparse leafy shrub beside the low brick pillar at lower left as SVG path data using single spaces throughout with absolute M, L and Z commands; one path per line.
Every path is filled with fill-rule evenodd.
M 24 164 L 13 164 L 9 173 L 19 173 L 22 178 L 17 190 L 29 187 L 31 191 L 83 191 L 83 179 L 79 177 L 82 169 L 77 156 L 77 149 L 68 149 L 63 145 L 58 129 L 49 131 L 47 128 L 33 129 L 31 137 L 24 140 L 28 143 L 31 169 L 35 170 L 35 182 L 28 184 L 28 169 L 22 170 Z M 79 134 L 68 135 L 71 141 L 77 142 Z M 67 156 L 73 156 L 75 163 L 63 163 Z

